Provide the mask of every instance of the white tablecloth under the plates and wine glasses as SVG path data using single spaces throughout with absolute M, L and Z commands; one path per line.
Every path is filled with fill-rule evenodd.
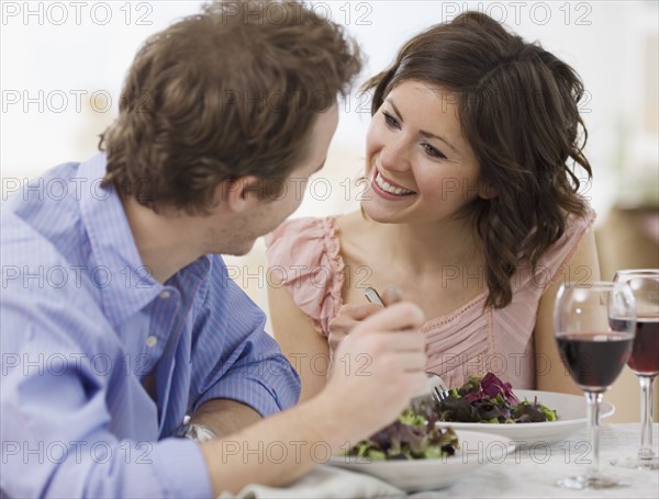
M 659 424 L 652 428 L 657 451 Z M 249 486 L 242 498 L 659 498 L 659 474 L 636 469 L 613 468 L 612 458 L 635 455 L 640 443 L 640 424 L 605 424 L 600 433 L 600 460 L 604 470 L 615 473 L 632 483 L 630 487 L 606 490 L 569 490 L 555 486 L 558 478 L 578 475 L 589 465 L 590 452 L 585 431 L 552 446 L 539 446 L 532 452 L 521 449 L 509 454 L 501 464 L 479 468 L 453 486 L 426 492 L 405 495 L 389 484 L 368 475 L 346 472 L 332 466 L 319 466 L 302 479 L 286 488 Z M 222 497 L 231 497 L 223 495 Z

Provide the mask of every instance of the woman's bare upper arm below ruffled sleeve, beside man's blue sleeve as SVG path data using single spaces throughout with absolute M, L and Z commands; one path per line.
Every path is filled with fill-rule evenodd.
M 300 402 L 319 394 L 326 384 L 330 368 L 327 339 L 314 329 L 311 319 L 280 284 L 268 286 L 272 332 L 281 351 L 302 381 Z

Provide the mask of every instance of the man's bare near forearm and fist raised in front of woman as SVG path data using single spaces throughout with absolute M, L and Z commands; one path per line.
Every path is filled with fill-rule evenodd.
M 351 361 L 316 397 L 201 444 L 213 494 L 290 483 L 393 421 L 426 383 L 423 320 L 409 303 L 375 314 L 340 342 L 337 356 Z

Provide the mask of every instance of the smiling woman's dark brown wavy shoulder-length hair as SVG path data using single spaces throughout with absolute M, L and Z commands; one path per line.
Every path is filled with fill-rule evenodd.
M 477 197 L 472 215 L 483 241 L 485 306 L 512 300 L 511 277 L 522 264 L 537 270 L 565 233 L 568 214 L 585 215 L 573 167 L 590 179 L 579 115 L 583 84 L 574 70 L 538 43 L 526 43 L 478 12 L 465 12 L 407 42 L 394 64 L 368 80 L 371 114 L 403 81 L 455 93 L 462 132 L 494 197 Z M 568 165 L 571 163 L 571 165 Z

